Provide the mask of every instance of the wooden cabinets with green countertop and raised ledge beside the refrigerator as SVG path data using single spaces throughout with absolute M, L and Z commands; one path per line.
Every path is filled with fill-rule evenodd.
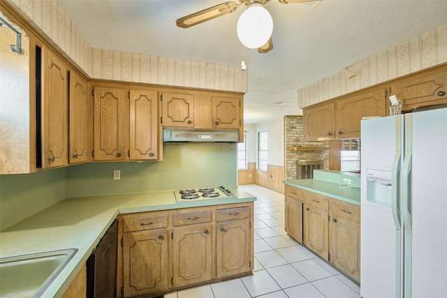
M 360 174 L 314 170 L 284 184 L 286 232 L 360 283 Z

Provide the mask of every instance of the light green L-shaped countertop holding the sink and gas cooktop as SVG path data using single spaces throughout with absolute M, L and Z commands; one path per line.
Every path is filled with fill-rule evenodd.
M 229 188 L 237 198 L 175 201 L 173 191 L 66 198 L 0 232 L 0 258 L 78 248 L 43 297 L 61 297 L 118 214 L 252 202 L 253 195 Z

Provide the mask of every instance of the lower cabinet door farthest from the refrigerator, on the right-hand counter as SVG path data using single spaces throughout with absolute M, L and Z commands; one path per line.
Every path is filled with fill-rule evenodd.
M 285 197 L 285 230 L 302 244 L 302 202 Z

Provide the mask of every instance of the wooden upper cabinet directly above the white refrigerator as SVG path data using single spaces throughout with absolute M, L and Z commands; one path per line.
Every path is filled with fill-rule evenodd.
M 391 86 L 390 94 L 402 100 L 403 111 L 447 103 L 447 65 L 398 80 Z

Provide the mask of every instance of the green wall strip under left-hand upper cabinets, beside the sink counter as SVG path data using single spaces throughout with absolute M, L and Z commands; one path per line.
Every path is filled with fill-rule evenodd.
M 0 230 L 64 200 L 65 172 L 0 175 Z

